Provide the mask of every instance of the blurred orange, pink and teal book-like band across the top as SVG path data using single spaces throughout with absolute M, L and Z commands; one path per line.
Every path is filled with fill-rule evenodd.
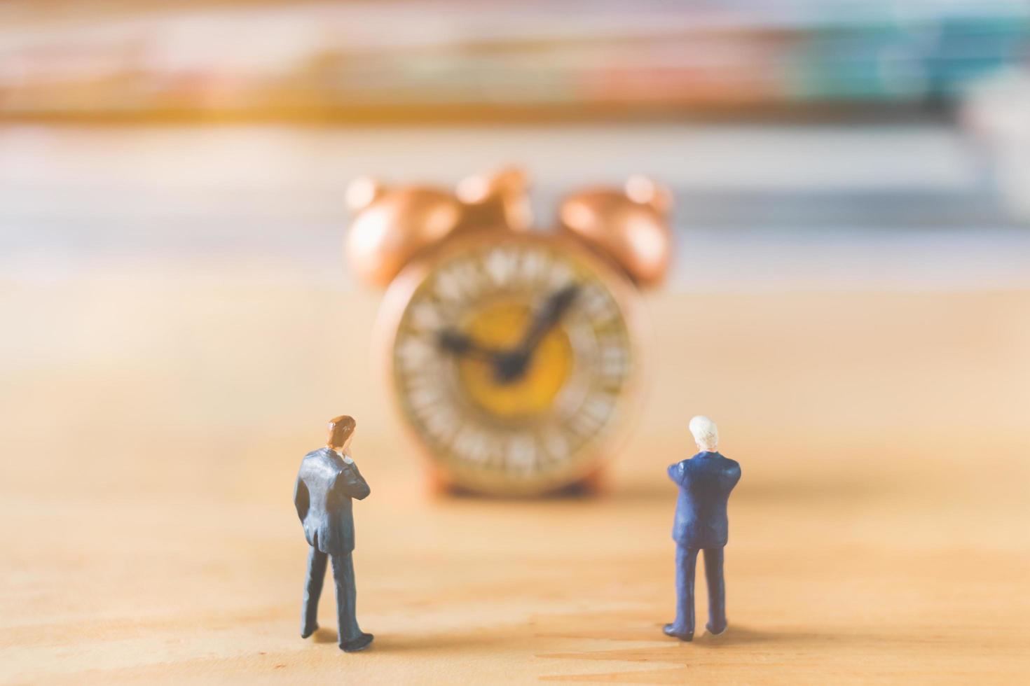
M 8 2 L 0 117 L 890 111 L 1025 65 L 1015 0 Z

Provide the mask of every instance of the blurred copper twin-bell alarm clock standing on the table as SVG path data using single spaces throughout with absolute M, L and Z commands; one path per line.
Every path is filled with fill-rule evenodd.
M 571 195 L 549 233 L 525 190 L 515 171 L 348 189 L 346 252 L 386 286 L 376 349 L 404 423 L 439 482 L 491 495 L 583 482 L 611 457 L 640 405 L 640 289 L 671 253 L 648 179 Z

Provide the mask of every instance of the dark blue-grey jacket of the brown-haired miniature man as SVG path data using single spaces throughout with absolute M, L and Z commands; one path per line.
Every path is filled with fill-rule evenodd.
M 369 493 L 357 465 L 348 465 L 336 450 L 321 447 L 304 456 L 294 488 L 294 504 L 308 543 L 328 554 L 353 550 L 351 499 L 363 500 Z

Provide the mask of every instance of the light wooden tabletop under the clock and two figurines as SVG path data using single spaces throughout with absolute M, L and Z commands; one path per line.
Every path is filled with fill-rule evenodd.
M 260 265 L 0 284 L 0 679 L 1026 682 L 1030 293 L 653 296 L 606 493 L 533 502 L 426 492 L 367 363 L 376 305 Z M 353 655 L 332 592 L 298 636 L 290 502 L 341 412 L 373 491 Z M 664 466 L 699 412 L 744 476 L 730 628 L 682 644 Z

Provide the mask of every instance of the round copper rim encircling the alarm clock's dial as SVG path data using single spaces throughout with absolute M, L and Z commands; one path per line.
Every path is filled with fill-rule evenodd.
M 633 359 L 630 372 L 623 384 L 622 395 L 625 400 L 619 402 L 622 417 L 616 419 L 616 425 L 610 429 L 610 433 L 604 441 L 594 446 L 593 455 L 587 455 L 579 460 L 574 467 L 559 470 L 548 479 L 537 479 L 531 483 L 524 484 L 513 481 L 503 482 L 503 480 L 493 478 L 484 480 L 466 478 L 461 473 L 464 470 L 453 468 L 448 461 L 438 457 L 405 410 L 393 364 L 394 345 L 404 313 L 430 273 L 437 265 L 458 253 L 482 245 L 493 245 L 501 242 L 558 247 L 569 250 L 583 259 L 587 266 L 594 270 L 615 299 L 625 322 L 629 351 Z M 378 358 L 375 361 L 375 366 L 385 372 L 390 401 L 400 414 L 404 432 L 430 465 L 438 483 L 488 496 L 516 498 L 542 496 L 583 482 L 597 473 L 614 458 L 618 448 L 625 443 L 626 438 L 632 432 L 641 414 L 644 380 L 647 377 L 647 350 L 650 348 L 650 336 L 645 320 L 643 296 L 629 277 L 622 273 L 611 258 L 591 250 L 568 232 L 560 230 L 555 232 L 516 232 L 508 228 L 471 229 L 468 232 L 462 231 L 461 234 L 450 237 L 441 245 L 419 255 L 405 265 L 390 282 L 383 295 L 373 331 L 373 350 Z M 634 399 L 637 402 L 633 402 Z

